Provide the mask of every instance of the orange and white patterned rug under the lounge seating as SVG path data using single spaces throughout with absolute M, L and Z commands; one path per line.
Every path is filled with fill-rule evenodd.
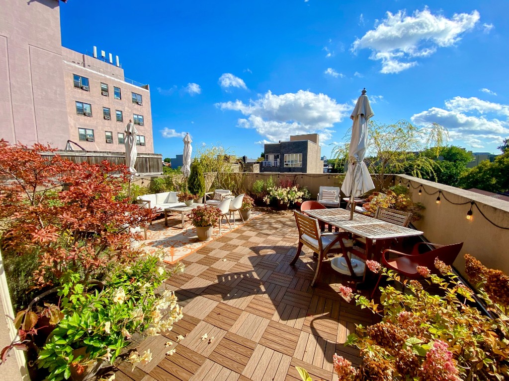
M 261 211 L 251 210 L 249 219 L 257 218 L 264 214 Z M 244 225 L 238 215 L 235 219 L 237 228 Z M 174 264 L 177 261 L 191 255 L 196 250 L 208 245 L 217 238 L 228 234 L 237 228 L 230 229 L 227 221 L 223 219 L 221 223 L 221 235 L 219 235 L 219 225 L 215 226 L 210 241 L 202 242 L 196 236 L 196 229 L 186 218 L 185 229 L 182 229 L 181 218 L 179 216 L 168 217 L 168 226 L 164 226 L 164 218 L 153 221 L 152 225 L 147 227 L 147 240 L 142 241 L 142 247 L 149 253 L 154 253 L 159 249 L 164 250 L 164 262 Z M 231 220 L 233 227 L 233 219 Z

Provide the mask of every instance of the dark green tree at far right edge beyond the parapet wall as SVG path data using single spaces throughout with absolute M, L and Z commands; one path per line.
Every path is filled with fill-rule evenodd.
M 461 176 L 460 187 L 477 188 L 488 192 L 509 192 L 509 150 L 495 158 L 493 163 L 484 160 Z

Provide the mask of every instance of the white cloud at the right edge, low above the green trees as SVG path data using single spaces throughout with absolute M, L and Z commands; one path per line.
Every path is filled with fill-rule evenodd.
M 445 101 L 445 109 L 432 107 L 415 114 L 412 122 L 421 125 L 439 123 L 449 131 L 454 144 L 469 148 L 491 148 L 509 136 L 509 105 L 455 97 Z

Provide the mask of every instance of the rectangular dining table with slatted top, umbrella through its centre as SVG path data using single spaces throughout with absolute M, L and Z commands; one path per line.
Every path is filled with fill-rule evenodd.
M 419 230 L 405 228 L 360 213 L 354 213 L 353 219 L 350 219 L 350 211 L 342 208 L 313 209 L 306 210 L 305 213 L 329 224 L 329 226 L 364 237 L 366 239 L 366 259 L 373 259 L 377 262 L 381 260 L 381 250 L 387 241 L 424 234 Z

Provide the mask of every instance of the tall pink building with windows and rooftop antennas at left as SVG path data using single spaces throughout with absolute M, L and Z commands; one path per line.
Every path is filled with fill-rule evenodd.
M 118 152 L 132 120 L 138 152 L 154 152 L 148 85 L 128 82 L 111 53 L 62 47 L 60 2 L 1 4 L 0 138 Z

